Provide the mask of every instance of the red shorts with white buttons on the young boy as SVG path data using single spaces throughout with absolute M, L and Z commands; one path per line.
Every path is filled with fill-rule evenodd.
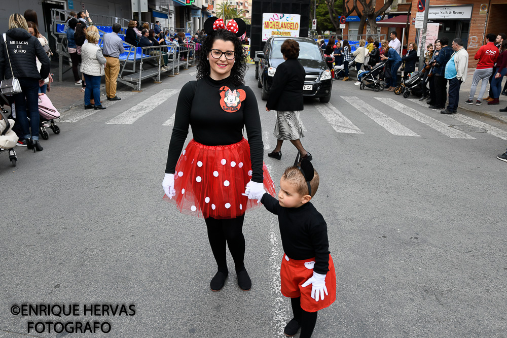
M 288 259 L 288 260 L 287 260 Z M 282 267 L 280 270 L 281 289 L 285 297 L 297 298 L 301 296 L 301 308 L 306 312 L 316 312 L 329 307 L 336 300 L 336 273 L 333 258 L 329 255 L 329 272 L 325 276 L 325 286 L 328 295 L 324 293 L 324 299 L 315 301 L 311 297 L 312 285 L 302 287 L 313 276 L 313 264 L 315 258 L 295 260 L 283 254 Z M 305 263 L 307 263 L 305 265 Z

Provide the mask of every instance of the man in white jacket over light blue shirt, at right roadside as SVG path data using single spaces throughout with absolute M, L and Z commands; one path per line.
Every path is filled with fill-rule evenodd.
M 466 79 L 468 69 L 468 52 L 463 48 L 463 40 L 452 41 L 454 53 L 445 66 L 445 78 L 449 81 L 449 105 L 441 114 L 456 114 L 459 102 L 459 88 Z

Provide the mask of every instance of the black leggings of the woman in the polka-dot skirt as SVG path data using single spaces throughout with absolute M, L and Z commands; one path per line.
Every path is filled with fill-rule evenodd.
M 245 269 L 245 236 L 243 236 L 243 221 L 245 215 L 231 219 L 204 219 L 208 228 L 208 239 L 211 251 L 215 257 L 218 271 L 228 274 L 226 258 L 226 242 L 229 246 L 236 273 Z

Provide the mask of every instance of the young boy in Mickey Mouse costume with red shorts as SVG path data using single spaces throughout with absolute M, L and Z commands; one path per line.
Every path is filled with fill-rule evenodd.
M 313 165 L 303 159 L 289 167 L 280 179 L 278 200 L 269 193 L 252 196 L 278 215 L 284 255 L 281 266 L 281 292 L 291 298 L 294 318 L 284 332 L 310 337 L 317 311 L 336 299 L 336 274 L 329 253 L 328 227 L 310 200 L 317 192 L 319 177 Z M 311 288 L 308 287 L 311 284 Z

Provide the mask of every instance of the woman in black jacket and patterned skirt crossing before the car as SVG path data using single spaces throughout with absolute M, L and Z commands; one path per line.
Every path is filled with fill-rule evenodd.
M 312 155 L 303 148 L 300 139 L 305 136 L 303 123 L 299 118 L 303 110 L 303 85 L 305 84 L 305 69 L 298 61 L 299 44 L 287 39 L 280 47 L 285 62 L 276 68 L 273 85 L 269 93 L 266 111 L 276 110 L 276 124 L 274 135 L 277 138 L 276 148 L 268 154 L 269 157 L 282 158 L 282 144 L 289 140 L 298 148 L 301 158 L 312 160 Z

